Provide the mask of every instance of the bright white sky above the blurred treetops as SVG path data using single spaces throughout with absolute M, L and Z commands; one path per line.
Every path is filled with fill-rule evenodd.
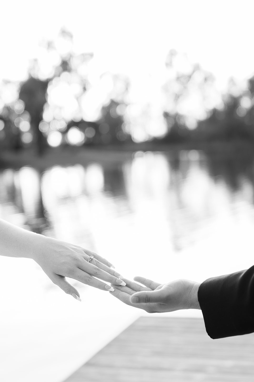
M 56 36 L 64 25 L 77 50 L 95 53 L 102 71 L 160 76 L 171 48 L 187 52 L 222 82 L 254 71 L 254 5 L 248 0 L 14 0 L 1 8 L 0 78 L 22 79 L 38 40 Z

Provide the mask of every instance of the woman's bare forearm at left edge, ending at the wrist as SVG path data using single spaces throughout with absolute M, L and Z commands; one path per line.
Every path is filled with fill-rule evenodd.
M 0 219 L 0 254 L 10 257 L 32 258 L 33 248 L 36 241 L 40 239 L 37 233 L 27 231 L 23 228 Z

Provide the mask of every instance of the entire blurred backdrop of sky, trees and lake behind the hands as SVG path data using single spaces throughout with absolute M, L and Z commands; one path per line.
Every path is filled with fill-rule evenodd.
M 0 218 L 126 278 L 201 282 L 253 265 L 253 10 L 2 5 Z M 0 264 L 6 382 L 60 382 L 145 314 L 75 280 L 82 302 L 69 301 L 29 259 Z

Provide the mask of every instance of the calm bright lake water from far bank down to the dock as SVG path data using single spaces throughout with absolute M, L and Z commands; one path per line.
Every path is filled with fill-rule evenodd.
M 126 278 L 203 281 L 254 263 L 253 169 L 252 159 L 193 150 L 136 152 L 42 172 L 6 168 L 0 218 L 96 251 Z M 8 290 L 0 322 L 6 382 L 16 378 L 13 360 L 19 382 L 64 380 L 143 313 L 71 280 L 78 304 L 29 259 L 0 257 L 0 276 Z M 96 336 L 88 333 L 91 320 Z

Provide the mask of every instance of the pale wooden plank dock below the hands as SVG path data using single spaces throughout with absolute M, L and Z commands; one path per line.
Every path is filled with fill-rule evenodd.
M 254 333 L 212 340 L 203 319 L 140 317 L 65 382 L 253 382 Z

